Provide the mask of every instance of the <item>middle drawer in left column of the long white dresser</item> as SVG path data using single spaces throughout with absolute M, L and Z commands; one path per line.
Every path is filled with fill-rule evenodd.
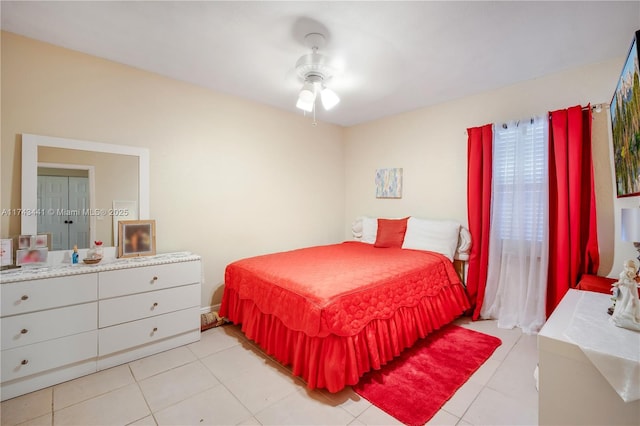
M 95 330 L 97 319 L 97 302 L 2 318 L 2 349 Z

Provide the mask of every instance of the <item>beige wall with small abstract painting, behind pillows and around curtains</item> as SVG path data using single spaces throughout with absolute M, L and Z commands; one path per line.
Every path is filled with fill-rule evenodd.
M 593 64 L 346 129 L 345 235 L 359 215 L 449 218 L 466 225 L 466 129 L 577 104 L 608 103 L 623 61 Z M 606 108 L 594 113 L 599 272 L 617 275 L 621 259 L 637 256 L 631 244 L 619 241 L 620 208 L 637 206 L 638 198 L 614 199 L 609 127 Z M 404 169 L 402 199 L 375 198 L 375 170 L 386 167 Z

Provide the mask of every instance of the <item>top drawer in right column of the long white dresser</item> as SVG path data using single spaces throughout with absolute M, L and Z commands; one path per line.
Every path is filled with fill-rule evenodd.
M 202 273 L 200 261 L 195 261 L 105 271 L 98 275 L 98 292 L 104 299 L 199 283 Z

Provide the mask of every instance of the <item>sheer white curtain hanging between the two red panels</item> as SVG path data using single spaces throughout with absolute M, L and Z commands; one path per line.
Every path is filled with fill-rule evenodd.
M 489 269 L 480 315 L 529 334 L 545 322 L 548 139 L 546 117 L 494 130 Z

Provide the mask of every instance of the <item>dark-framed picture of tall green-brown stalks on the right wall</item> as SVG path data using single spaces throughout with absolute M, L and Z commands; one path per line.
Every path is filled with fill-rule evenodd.
M 640 195 L 640 30 L 636 31 L 609 106 L 618 197 Z

